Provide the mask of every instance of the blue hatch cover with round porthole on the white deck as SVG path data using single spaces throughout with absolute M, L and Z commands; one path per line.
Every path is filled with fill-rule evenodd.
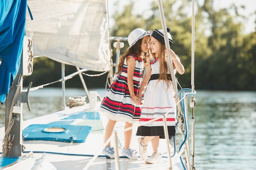
M 83 143 L 91 130 L 91 126 L 32 124 L 22 130 L 22 139 Z

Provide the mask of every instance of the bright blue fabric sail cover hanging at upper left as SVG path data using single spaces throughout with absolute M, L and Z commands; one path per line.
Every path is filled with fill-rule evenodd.
M 15 79 L 25 35 L 27 0 L 0 0 L 0 102 L 5 102 Z

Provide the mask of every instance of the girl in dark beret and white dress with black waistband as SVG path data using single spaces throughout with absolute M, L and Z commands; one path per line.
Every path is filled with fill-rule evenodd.
M 170 29 L 167 29 L 170 32 Z M 171 34 L 168 33 L 168 42 L 171 46 L 173 40 Z M 166 46 L 164 43 L 164 34 L 162 30 L 153 31 L 151 35 L 150 51 L 153 60 L 147 68 L 145 80 L 149 79 L 148 85 L 141 84 L 141 91 L 146 89 L 144 94 L 144 103 L 139 119 L 137 129 L 137 136 L 139 143 L 139 155 L 142 159 L 146 159 L 146 163 L 161 162 L 161 153 L 158 152 L 159 139 L 164 138 L 164 122 L 163 119 L 150 121 L 157 117 L 162 117 L 166 113 L 166 124 L 168 128 L 169 138 L 175 135 L 175 117 L 176 117 L 176 103 L 174 99 L 174 90 L 171 82 L 171 72 L 168 67 L 169 59 L 166 57 Z M 175 53 L 169 49 L 172 59 L 174 71 L 180 74 L 184 73 L 184 66 Z M 139 94 L 139 96 L 141 96 Z M 145 124 L 146 123 L 146 124 Z M 148 158 L 147 145 L 151 141 L 153 154 Z

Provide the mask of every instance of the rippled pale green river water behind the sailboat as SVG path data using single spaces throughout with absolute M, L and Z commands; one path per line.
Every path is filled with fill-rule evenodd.
M 98 91 L 103 96 L 104 89 Z M 31 119 L 62 109 L 60 88 L 29 92 L 23 104 L 23 119 Z M 82 89 L 66 89 L 68 97 L 85 96 Z M 188 96 L 189 98 L 191 96 Z M 253 170 L 256 168 L 256 92 L 197 91 L 195 94 L 196 170 Z M 0 105 L 0 127 L 4 126 L 5 105 Z M 190 108 L 189 108 L 190 110 Z M 188 113 L 191 127 L 191 111 Z M 177 134 L 177 140 L 179 134 Z M 177 141 L 176 150 L 180 141 Z

